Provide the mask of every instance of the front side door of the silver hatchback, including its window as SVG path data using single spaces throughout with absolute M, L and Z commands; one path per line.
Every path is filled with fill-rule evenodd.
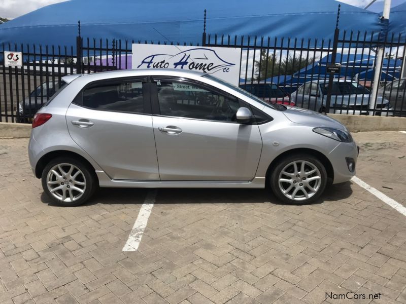
M 262 149 L 256 124 L 235 121 L 240 101 L 207 85 L 154 78 L 153 127 L 161 180 L 249 181 Z M 154 97 L 155 96 L 155 97 Z

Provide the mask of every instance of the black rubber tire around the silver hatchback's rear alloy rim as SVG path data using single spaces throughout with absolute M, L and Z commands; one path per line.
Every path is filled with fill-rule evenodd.
M 82 177 L 81 181 L 85 182 L 85 186 L 84 186 L 84 191 L 83 191 L 82 196 L 79 197 L 78 199 L 74 199 L 72 201 L 62 201 L 61 199 L 58 199 L 54 195 L 52 195 L 50 190 L 48 189 L 48 185 L 47 185 L 48 173 L 54 166 L 56 166 L 58 164 L 71 164 L 83 173 L 83 175 L 81 176 Z M 74 171 L 74 172 L 77 172 L 77 171 Z M 51 160 L 45 166 L 45 168 L 42 172 L 41 181 L 42 181 L 42 187 L 44 189 L 44 192 L 48 195 L 48 197 L 55 204 L 57 204 L 59 206 L 64 206 L 64 207 L 73 207 L 73 206 L 79 206 L 79 205 L 84 204 L 88 199 L 90 199 L 90 197 L 93 195 L 94 191 L 96 190 L 96 188 L 98 186 L 97 177 L 96 177 L 94 170 L 88 164 L 86 164 L 78 159 L 72 158 L 72 157 L 57 157 L 57 158 Z M 59 186 L 59 184 L 56 184 L 55 186 Z M 78 187 L 75 184 L 73 186 Z M 75 190 L 72 189 L 72 191 L 75 191 Z M 62 190 L 58 191 L 58 193 L 62 193 Z M 78 193 L 78 195 L 79 195 L 78 191 L 75 191 L 75 193 Z M 66 194 L 66 192 L 65 192 L 65 194 Z M 69 194 L 69 192 L 68 192 L 68 194 Z

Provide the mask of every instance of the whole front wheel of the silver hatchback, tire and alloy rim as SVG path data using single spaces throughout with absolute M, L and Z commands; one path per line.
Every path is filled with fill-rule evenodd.
M 270 175 L 274 194 L 289 204 L 309 204 L 324 192 L 327 172 L 323 164 L 309 154 L 283 158 Z

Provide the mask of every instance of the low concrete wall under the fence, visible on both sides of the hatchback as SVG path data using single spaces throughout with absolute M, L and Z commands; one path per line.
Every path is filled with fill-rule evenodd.
M 351 132 L 406 130 L 406 118 L 404 117 L 345 114 L 329 114 L 328 116 L 345 125 Z M 0 123 L 0 138 L 29 138 L 30 134 L 30 124 Z

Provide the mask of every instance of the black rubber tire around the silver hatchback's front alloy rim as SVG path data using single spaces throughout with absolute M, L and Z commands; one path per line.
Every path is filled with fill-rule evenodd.
M 287 196 L 285 196 L 285 194 L 283 194 L 283 192 L 279 186 L 279 176 L 280 176 L 282 170 L 287 165 L 289 165 L 295 161 L 305 161 L 305 162 L 311 163 L 320 172 L 321 180 L 320 180 L 319 187 L 318 187 L 316 193 L 314 193 L 308 199 L 306 199 L 304 197 L 304 193 L 301 192 L 301 190 L 299 190 L 298 193 L 301 194 L 301 196 L 303 196 L 303 199 L 300 198 L 300 200 L 293 200 L 291 198 L 288 198 Z M 306 165 L 306 166 L 308 166 L 308 165 Z M 308 168 L 308 167 L 306 167 L 306 168 Z M 306 169 L 304 171 L 306 172 Z M 310 170 L 308 170 L 307 172 L 310 172 Z M 299 178 L 302 178 L 302 177 L 303 176 L 300 176 Z M 296 177 L 292 177 L 292 180 L 296 181 L 294 186 L 297 184 L 300 184 Z M 269 183 L 270 183 L 270 187 L 271 187 L 273 193 L 275 194 L 275 196 L 282 202 L 287 203 L 287 204 L 293 204 L 293 205 L 310 204 L 310 203 L 315 202 L 323 194 L 324 189 L 327 184 L 327 172 L 326 172 L 324 165 L 316 157 L 314 157 L 310 154 L 304 154 L 304 153 L 291 154 L 291 155 L 284 157 L 282 160 L 279 161 L 279 163 L 274 168 L 272 168 L 272 172 L 270 173 L 270 176 L 269 176 Z M 302 184 L 304 185 L 305 189 L 309 190 L 309 188 L 306 187 L 304 182 Z M 285 186 L 285 185 L 286 185 L 286 187 L 289 187 L 289 183 L 283 183 L 283 186 Z M 310 185 L 315 185 L 315 183 L 313 183 L 313 181 L 312 181 Z M 289 195 L 289 193 L 292 194 L 291 192 L 293 192 L 293 190 L 289 191 L 288 195 Z

